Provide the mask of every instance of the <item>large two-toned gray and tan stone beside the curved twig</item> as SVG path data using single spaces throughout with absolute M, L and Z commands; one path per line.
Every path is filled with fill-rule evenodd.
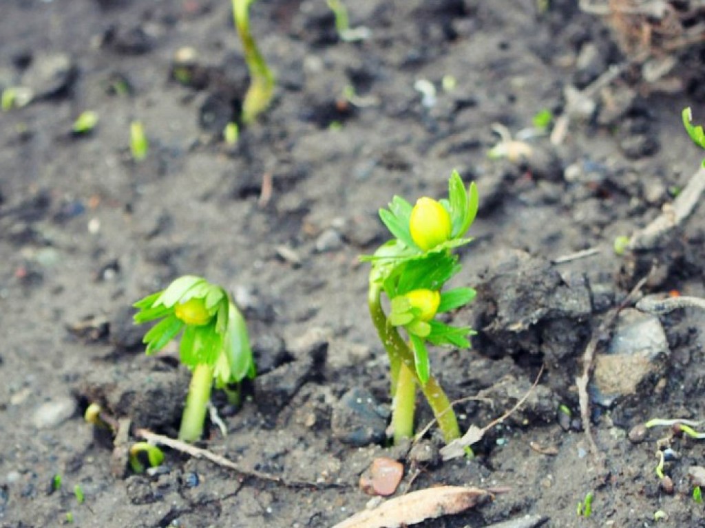
M 640 383 L 658 372 L 658 359 L 669 354 L 666 333 L 656 316 L 622 310 L 608 350 L 595 358 L 594 401 L 611 406 L 621 396 L 635 394 Z

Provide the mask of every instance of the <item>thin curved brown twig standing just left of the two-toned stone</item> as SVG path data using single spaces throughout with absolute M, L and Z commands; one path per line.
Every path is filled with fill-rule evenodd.
M 582 354 L 582 375 L 575 378 L 575 384 L 577 385 L 578 391 L 578 401 L 580 401 L 580 419 L 582 420 L 582 427 L 584 428 L 585 436 L 587 436 L 587 441 L 590 444 L 590 451 L 592 451 L 592 455 L 599 464 L 603 463 L 603 459 L 601 457 L 601 452 L 595 443 L 594 436 L 592 436 L 592 427 L 590 424 L 590 396 L 587 393 L 587 385 L 590 382 L 590 375 L 592 374 L 592 369 L 595 363 L 595 352 L 601 342 L 608 341 L 612 326 L 620 311 L 634 301 L 639 294 L 639 291 L 641 291 L 644 284 L 646 284 L 646 281 L 649 280 L 651 275 L 654 273 L 655 269 L 655 267 L 651 268 L 648 275 L 637 282 L 637 285 L 632 288 L 632 291 L 627 294 L 624 300 L 607 313 L 597 328 L 597 331 L 592 334 L 592 337 Z

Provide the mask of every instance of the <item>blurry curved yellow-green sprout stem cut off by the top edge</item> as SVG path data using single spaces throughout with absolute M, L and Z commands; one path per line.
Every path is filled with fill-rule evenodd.
M 274 96 L 274 73 L 264 61 L 264 56 L 259 52 L 255 38 L 250 32 L 250 4 L 255 0 L 233 0 L 233 18 L 235 28 L 243 43 L 243 53 L 247 70 L 250 71 L 250 87 L 247 88 L 243 100 L 242 120 L 245 125 L 253 122 L 259 113 L 269 107 Z

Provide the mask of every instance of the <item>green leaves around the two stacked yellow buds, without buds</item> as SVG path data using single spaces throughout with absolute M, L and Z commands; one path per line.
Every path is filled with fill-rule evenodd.
M 470 327 L 453 327 L 436 319 L 421 320 L 419 308 L 411 306 L 404 296 L 417 289 L 440 291 L 441 301 L 436 313 L 445 313 L 465 306 L 476 294 L 467 287 L 441 290 L 461 269 L 458 256 L 451 250 L 472 241 L 465 238 L 465 233 L 477 215 L 477 187 L 473 183 L 466 189 L 458 172 L 453 171 L 448 181 L 448 199 L 440 203 L 450 214 L 450 239 L 429 251 L 422 251 L 410 233 L 411 204 L 394 196 L 389 208 L 379 211 L 394 238 L 382 244 L 374 255 L 362 258 L 372 263 L 370 282 L 381 284 L 390 299 L 388 325 L 403 327 L 408 334 L 416 372 L 424 384 L 430 376 L 427 343 L 467 348 L 470 346 L 467 337 L 475 333 Z

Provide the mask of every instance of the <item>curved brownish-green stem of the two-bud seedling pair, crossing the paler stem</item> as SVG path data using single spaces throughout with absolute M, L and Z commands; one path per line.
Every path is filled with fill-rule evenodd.
M 413 421 L 413 403 L 410 405 L 407 401 L 400 402 L 400 398 L 398 398 L 398 395 L 396 394 L 399 390 L 401 365 L 404 365 L 404 367 L 406 367 L 406 369 L 413 376 L 415 383 L 421 387 L 424 396 L 426 396 L 426 399 L 429 402 L 429 406 L 431 406 L 431 410 L 433 410 L 436 420 L 439 422 L 439 427 L 441 432 L 443 432 L 443 439 L 445 439 L 446 444 L 448 444 L 450 441 L 460 438 L 460 427 L 458 427 L 458 420 L 455 418 L 455 413 L 453 412 L 453 408 L 450 406 L 448 396 L 446 396 L 446 393 L 443 389 L 441 389 L 441 386 L 433 376 L 429 377 L 429 380 L 425 385 L 419 380 L 416 373 L 416 365 L 414 363 L 414 354 L 401 338 L 396 327 L 388 324 L 387 316 L 384 313 L 384 308 L 382 308 L 381 304 L 381 294 L 381 286 L 374 281 L 370 281 L 369 290 L 367 291 L 367 305 L 369 306 L 369 313 L 372 315 L 374 327 L 377 329 L 377 333 L 379 334 L 379 339 L 381 339 L 382 344 L 384 344 L 384 348 L 386 348 L 389 356 L 392 379 L 391 393 L 395 398 L 395 412 L 398 412 L 396 411 L 396 408 L 411 408 L 411 420 Z M 407 395 L 404 396 L 404 398 L 408 397 L 409 396 Z M 412 394 L 412 398 L 415 398 L 415 394 Z M 395 427 L 396 420 L 401 420 L 401 418 L 395 417 L 393 419 L 393 425 Z

